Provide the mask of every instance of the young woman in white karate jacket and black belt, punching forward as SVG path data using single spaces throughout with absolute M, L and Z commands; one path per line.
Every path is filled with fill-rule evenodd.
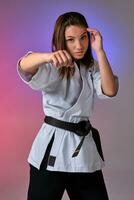
M 71 200 L 107 200 L 99 133 L 89 119 L 95 94 L 115 96 L 118 81 L 100 32 L 80 13 L 64 13 L 55 24 L 52 52 L 29 52 L 18 73 L 42 92 L 45 112 L 28 157 L 28 200 L 60 200 L 65 189 Z

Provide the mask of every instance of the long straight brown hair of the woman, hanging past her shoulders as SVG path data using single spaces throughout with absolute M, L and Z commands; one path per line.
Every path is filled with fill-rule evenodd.
M 60 15 L 55 23 L 53 37 L 52 37 L 52 51 L 58 50 L 66 50 L 66 41 L 65 41 L 65 29 L 67 26 L 77 25 L 81 27 L 88 28 L 88 24 L 86 22 L 85 17 L 78 12 L 67 12 Z M 87 52 L 84 57 L 79 60 L 79 62 L 85 64 L 86 68 L 89 68 L 93 65 L 94 59 L 91 50 L 90 43 L 90 34 L 89 37 L 89 45 Z M 59 75 L 63 79 L 64 77 L 70 78 L 75 72 L 75 68 L 72 67 L 61 67 L 59 68 Z

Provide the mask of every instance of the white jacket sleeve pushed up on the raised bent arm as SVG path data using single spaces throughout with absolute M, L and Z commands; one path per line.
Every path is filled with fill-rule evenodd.
M 92 81 L 93 81 L 94 91 L 96 95 L 98 96 L 98 98 L 100 99 L 112 98 L 110 96 L 105 95 L 102 91 L 100 70 L 99 70 L 98 62 L 96 60 L 94 61 L 94 66 L 92 70 Z

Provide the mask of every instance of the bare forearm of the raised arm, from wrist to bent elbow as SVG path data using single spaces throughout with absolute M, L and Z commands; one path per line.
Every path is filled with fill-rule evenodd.
M 118 91 L 118 80 L 113 74 L 107 56 L 103 50 L 97 53 L 97 59 L 100 68 L 103 93 L 108 96 L 115 96 Z

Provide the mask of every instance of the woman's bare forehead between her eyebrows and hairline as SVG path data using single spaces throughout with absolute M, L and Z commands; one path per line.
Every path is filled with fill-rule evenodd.
M 86 27 L 70 25 L 70 26 L 67 26 L 65 29 L 65 37 L 68 37 L 68 36 L 76 37 L 76 36 L 82 35 L 85 32 L 87 32 Z

